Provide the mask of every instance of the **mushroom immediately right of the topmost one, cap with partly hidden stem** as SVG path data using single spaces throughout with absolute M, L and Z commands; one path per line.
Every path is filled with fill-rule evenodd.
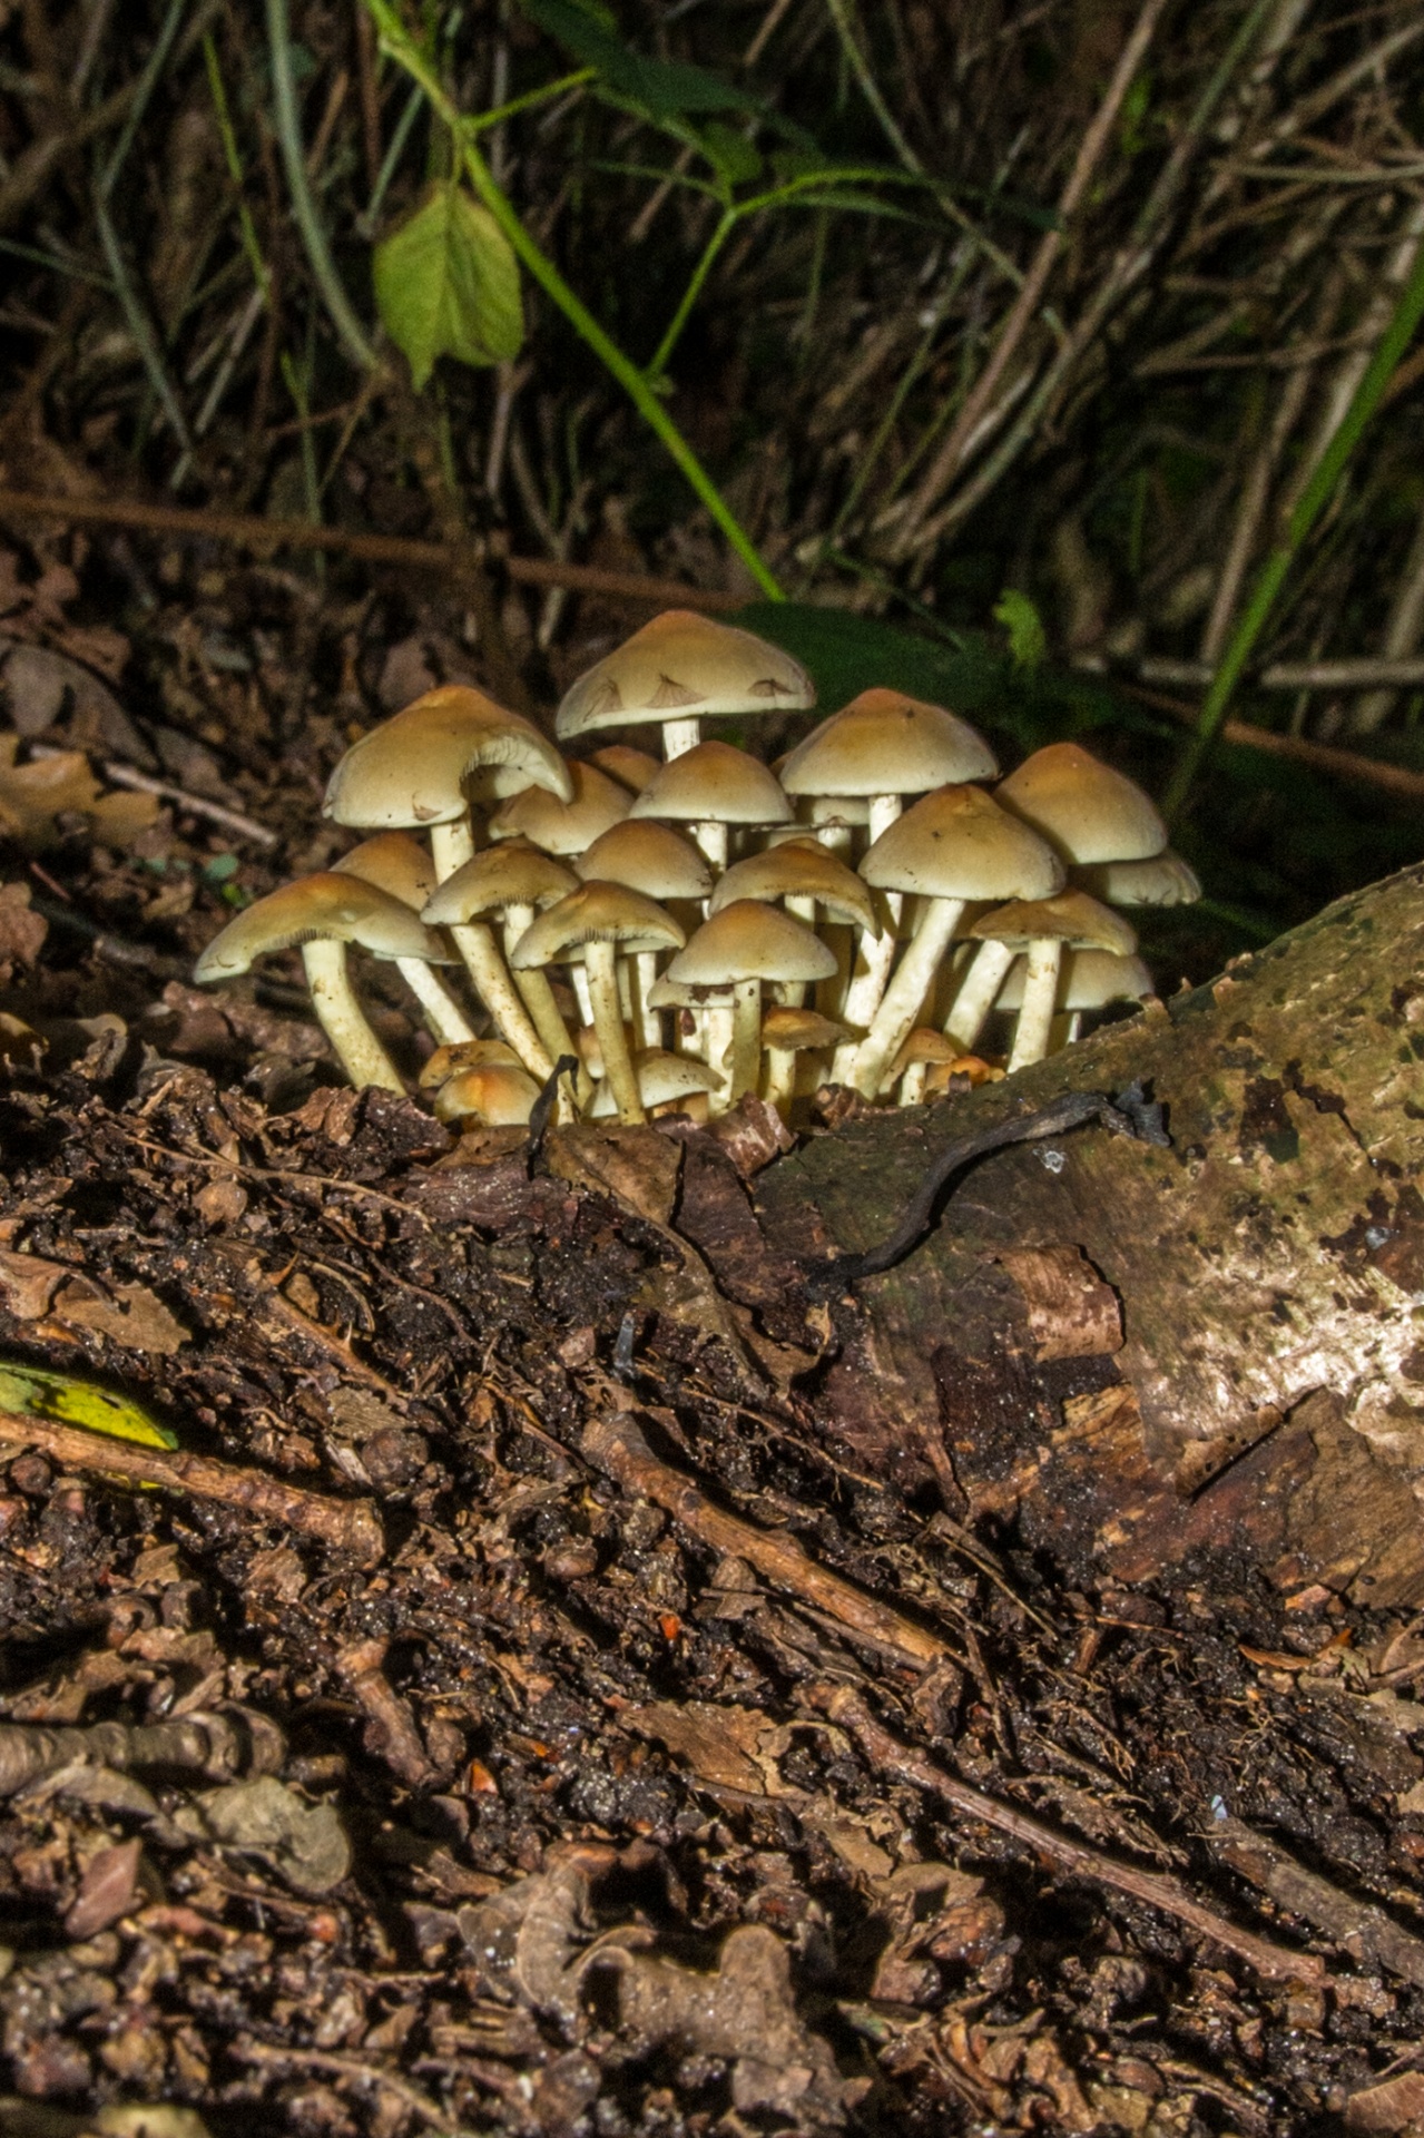
M 821 721 L 791 750 L 780 768 L 780 785 L 789 795 L 808 797 L 812 808 L 864 802 L 868 840 L 874 845 L 900 817 L 904 795 L 992 780 L 996 772 L 994 753 L 969 721 L 902 691 L 872 688 L 862 691 L 830 721 Z M 900 896 L 885 892 L 881 909 L 885 926 L 862 934 L 851 986 L 840 1005 L 847 1024 L 862 1031 L 874 1018 L 889 979 L 900 932 Z

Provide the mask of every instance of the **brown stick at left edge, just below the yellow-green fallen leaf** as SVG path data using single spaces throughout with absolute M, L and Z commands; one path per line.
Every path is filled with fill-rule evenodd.
M 0 1411 L 0 1439 L 21 1447 L 43 1447 L 66 1469 L 100 1471 L 107 1477 L 158 1484 L 169 1492 L 210 1499 L 220 1507 L 242 1507 L 261 1522 L 301 1529 L 340 1552 L 355 1552 L 368 1567 L 385 1552 L 381 1518 L 368 1499 L 325 1499 L 263 1471 L 214 1462 L 212 1456 L 141 1447 L 137 1441 L 86 1432 L 81 1426 L 58 1426 L 21 1411 Z

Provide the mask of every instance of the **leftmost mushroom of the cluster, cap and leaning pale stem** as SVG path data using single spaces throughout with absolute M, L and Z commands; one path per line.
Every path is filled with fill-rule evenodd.
M 316 1020 L 336 1048 L 342 1069 L 357 1086 L 378 1084 L 404 1093 L 404 1080 L 366 1022 L 346 973 L 346 943 L 359 943 L 376 958 L 419 958 L 443 964 L 447 954 L 436 934 L 411 907 L 361 877 L 340 877 L 334 868 L 284 883 L 280 892 L 231 919 L 212 939 L 192 977 L 199 988 L 235 979 L 257 958 L 301 945 L 306 983 Z

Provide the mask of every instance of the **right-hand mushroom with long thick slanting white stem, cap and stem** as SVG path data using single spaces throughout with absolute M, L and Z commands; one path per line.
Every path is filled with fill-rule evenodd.
M 941 787 L 881 832 L 860 864 L 866 883 L 926 900 L 917 932 L 881 996 L 866 1037 L 834 1073 L 872 1099 L 919 1018 L 964 907 L 977 898 L 1046 898 L 1063 862 L 979 787 Z

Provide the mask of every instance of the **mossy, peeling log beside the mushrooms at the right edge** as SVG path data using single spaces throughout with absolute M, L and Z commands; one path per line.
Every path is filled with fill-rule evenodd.
M 1099 1580 L 1223 1552 L 1422 1599 L 1424 868 L 1005 1084 L 812 1137 L 755 1184 L 768 1246 L 860 1253 L 949 1140 L 1133 1078 L 1172 1148 L 1082 1129 L 973 1167 L 832 1308 L 823 1430 Z

